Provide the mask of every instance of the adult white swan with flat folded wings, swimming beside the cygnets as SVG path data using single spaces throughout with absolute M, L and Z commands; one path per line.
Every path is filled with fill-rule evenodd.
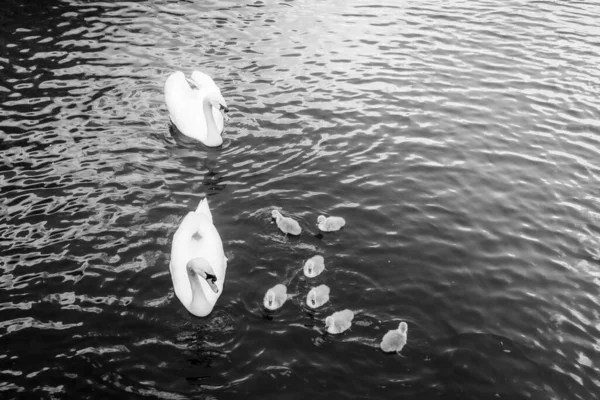
M 227 258 L 206 199 L 173 235 L 169 269 L 175 295 L 185 308 L 198 317 L 210 314 L 223 293 Z

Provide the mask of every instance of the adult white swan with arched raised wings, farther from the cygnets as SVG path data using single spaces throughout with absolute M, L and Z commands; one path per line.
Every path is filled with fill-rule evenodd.
M 187 79 L 183 72 L 173 72 L 165 82 L 165 101 L 171 121 L 181 133 L 209 147 L 223 143 L 222 112 L 229 109 L 210 76 L 194 71 Z

